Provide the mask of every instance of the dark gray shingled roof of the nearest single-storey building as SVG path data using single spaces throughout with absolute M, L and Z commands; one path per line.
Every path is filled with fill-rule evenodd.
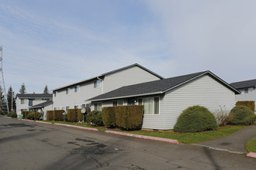
M 168 90 L 181 86 L 184 83 L 188 83 L 189 81 L 194 80 L 199 76 L 203 76 L 206 73 L 208 73 L 210 76 L 213 76 L 213 78 L 218 80 L 220 83 L 223 83 L 224 86 L 230 88 L 231 90 L 234 90 L 235 93 L 240 93 L 238 90 L 234 89 L 234 87 L 230 87 L 228 83 L 221 80 L 218 76 L 214 75 L 210 71 L 203 71 L 199 73 L 187 74 L 184 76 L 175 76 L 175 77 L 171 77 L 164 80 L 155 80 L 147 83 L 138 83 L 138 84 L 134 84 L 126 87 L 120 87 L 119 89 L 112 90 L 109 93 L 101 94 L 89 100 L 91 101 L 108 100 L 108 99 L 121 98 L 121 97 L 133 97 L 133 96 L 144 96 L 144 95 L 154 94 L 154 93 L 165 93 Z

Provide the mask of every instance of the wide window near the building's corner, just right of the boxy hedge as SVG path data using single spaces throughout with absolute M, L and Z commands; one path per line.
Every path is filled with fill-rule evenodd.
M 159 114 L 159 97 L 144 98 L 144 114 Z

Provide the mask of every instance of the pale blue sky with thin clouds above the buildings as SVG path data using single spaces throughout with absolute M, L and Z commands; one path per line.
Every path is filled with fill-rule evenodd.
M 139 63 L 164 77 L 256 78 L 256 1 L 0 2 L 6 90 L 43 93 Z

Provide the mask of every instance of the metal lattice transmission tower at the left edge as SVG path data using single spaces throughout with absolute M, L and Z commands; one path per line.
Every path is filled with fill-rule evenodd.
M 0 46 L 0 114 L 9 113 L 9 105 L 5 91 L 4 73 L 2 72 L 2 46 Z

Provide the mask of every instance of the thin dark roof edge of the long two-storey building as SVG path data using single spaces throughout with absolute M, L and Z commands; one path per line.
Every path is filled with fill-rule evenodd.
M 77 84 L 79 84 L 79 83 L 84 83 L 84 82 L 86 82 L 86 81 L 88 81 L 88 80 L 94 80 L 94 79 L 97 79 L 97 77 L 102 78 L 103 76 L 106 76 L 106 75 L 109 75 L 109 74 L 112 74 L 112 73 L 116 73 L 116 72 L 119 72 L 119 71 L 122 71 L 122 70 L 126 70 L 126 69 L 129 69 L 129 68 L 133 67 L 133 66 L 138 66 L 138 67 L 140 67 L 141 69 L 146 70 L 146 71 L 149 72 L 149 73 L 152 73 L 154 76 L 157 76 L 157 77 L 159 77 L 160 79 L 164 79 L 163 76 L 160 76 L 160 75 L 158 75 L 157 73 L 154 73 L 153 71 L 148 70 L 148 69 L 145 68 L 144 66 L 141 66 L 140 64 L 135 63 L 135 64 L 132 64 L 132 65 L 130 65 L 130 66 L 125 66 L 125 67 L 120 68 L 120 69 L 117 69 L 117 70 L 112 70 L 112 71 L 109 71 L 109 72 L 107 72 L 107 73 L 102 73 L 101 75 L 92 77 L 92 78 L 90 78 L 90 79 L 81 80 L 81 81 L 76 82 L 76 83 L 68 84 L 67 86 L 64 86 L 64 87 L 56 88 L 56 89 L 54 89 L 54 91 L 55 91 L 55 90 L 61 90 L 61 89 L 67 88 L 67 87 L 71 87 L 71 86 L 77 85 Z

